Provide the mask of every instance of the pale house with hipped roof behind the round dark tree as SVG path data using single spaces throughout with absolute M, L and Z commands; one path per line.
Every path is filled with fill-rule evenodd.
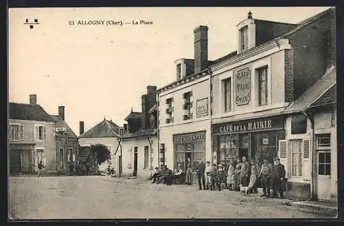
M 80 122 L 80 132 L 84 130 L 84 123 Z M 117 139 L 120 137 L 120 133 L 123 130 L 122 127 L 116 125 L 116 123 L 111 120 L 104 118 L 103 121 L 92 127 L 85 133 L 80 134 L 78 143 L 80 148 L 84 150 L 83 147 L 89 147 L 89 145 L 95 145 L 97 143 L 105 145 L 111 152 L 111 161 L 103 163 L 99 166 L 99 170 L 105 170 L 107 165 L 111 165 L 118 172 L 118 161 L 116 161 L 116 155 L 114 150 L 118 146 Z M 88 150 L 87 148 L 85 150 Z M 80 154 L 83 156 L 83 154 Z M 85 156 L 83 157 L 85 158 Z

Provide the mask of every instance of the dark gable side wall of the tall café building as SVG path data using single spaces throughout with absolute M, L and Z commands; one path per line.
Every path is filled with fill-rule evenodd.
M 334 19 L 331 11 L 286 37 L 294 50 L 294 99 L 325 74 L 328 58 L 335 63 Z M 327 32 L 330 32 L 330 37 L 327 37 Z

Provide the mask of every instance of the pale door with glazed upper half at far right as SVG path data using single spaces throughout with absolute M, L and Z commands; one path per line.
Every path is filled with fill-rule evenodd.
M 317 154 L 318 178 L 317 178 L 317 196 L 319 199 L 330 200 L 331 198 L 331 153 L 330 151 L 321 151 Z

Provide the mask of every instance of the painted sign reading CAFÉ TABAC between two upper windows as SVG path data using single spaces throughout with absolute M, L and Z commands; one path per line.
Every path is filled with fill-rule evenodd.
M 238 106 L 247 105 L 251 99 L 251 74 L 248 68 L 237 71 L 235 76 L 235 102 Z

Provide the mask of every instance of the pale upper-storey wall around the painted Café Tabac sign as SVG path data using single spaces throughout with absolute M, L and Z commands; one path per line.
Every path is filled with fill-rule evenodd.
M 268 105 L 258 105 L 258 75 L 255 69 L 268 65 Z M 248 68 L 250 70 L 250 101 L 247 105 L 238 106 L 236 98 L 236 74 L 238 70 Z M 230 112 L 224 110 L 224 85 L 222 81 L 231 77 L 232 109 Z M 259 112 L 272 108 L 284 106 L 284 50 L 251 61 L 237 68 L 233 68 L 213 76 L 213 119 L 233 116 L 235 114 L 246 114 Z

